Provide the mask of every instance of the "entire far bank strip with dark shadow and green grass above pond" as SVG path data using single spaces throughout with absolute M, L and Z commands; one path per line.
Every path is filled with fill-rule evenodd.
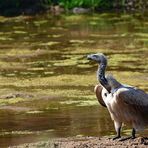
M 91 10 L 146 10 L 148 4 L 146 0 L 0 0 L 0 14 L 2 15 L 19 15 L 19 14 L 36 14 L 41 11 L 50 10 L 60 11 L 60 8 L 53 6 L 59 5 L 66 11 L 76 7 L 90 8 Z

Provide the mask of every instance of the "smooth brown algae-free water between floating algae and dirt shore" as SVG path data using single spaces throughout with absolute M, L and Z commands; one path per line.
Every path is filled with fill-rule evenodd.
M 102 108 L 98 107 L 79 107 L 39 114 L 11 113 L 11 118 L 10 114 L 5 115 L 3 118 L 1 117 L 3 122 L 0 123 L 0 126 L 7 129 L 7 132 L 3 131 L 0 135 L 1 146 L 32 142 L 39 138 L 48 140 L 49 137 L 105 135 L 113 125 L 108 112 L 105 111 L 104 114 L 102 112 L 104 112 Z M 17 141 L 18 138 L 20 140 Z

